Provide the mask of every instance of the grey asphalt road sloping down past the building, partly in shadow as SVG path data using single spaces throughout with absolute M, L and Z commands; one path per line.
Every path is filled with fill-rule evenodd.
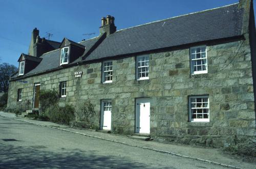
M 0 117 L 0 168 L 226 168 Z

